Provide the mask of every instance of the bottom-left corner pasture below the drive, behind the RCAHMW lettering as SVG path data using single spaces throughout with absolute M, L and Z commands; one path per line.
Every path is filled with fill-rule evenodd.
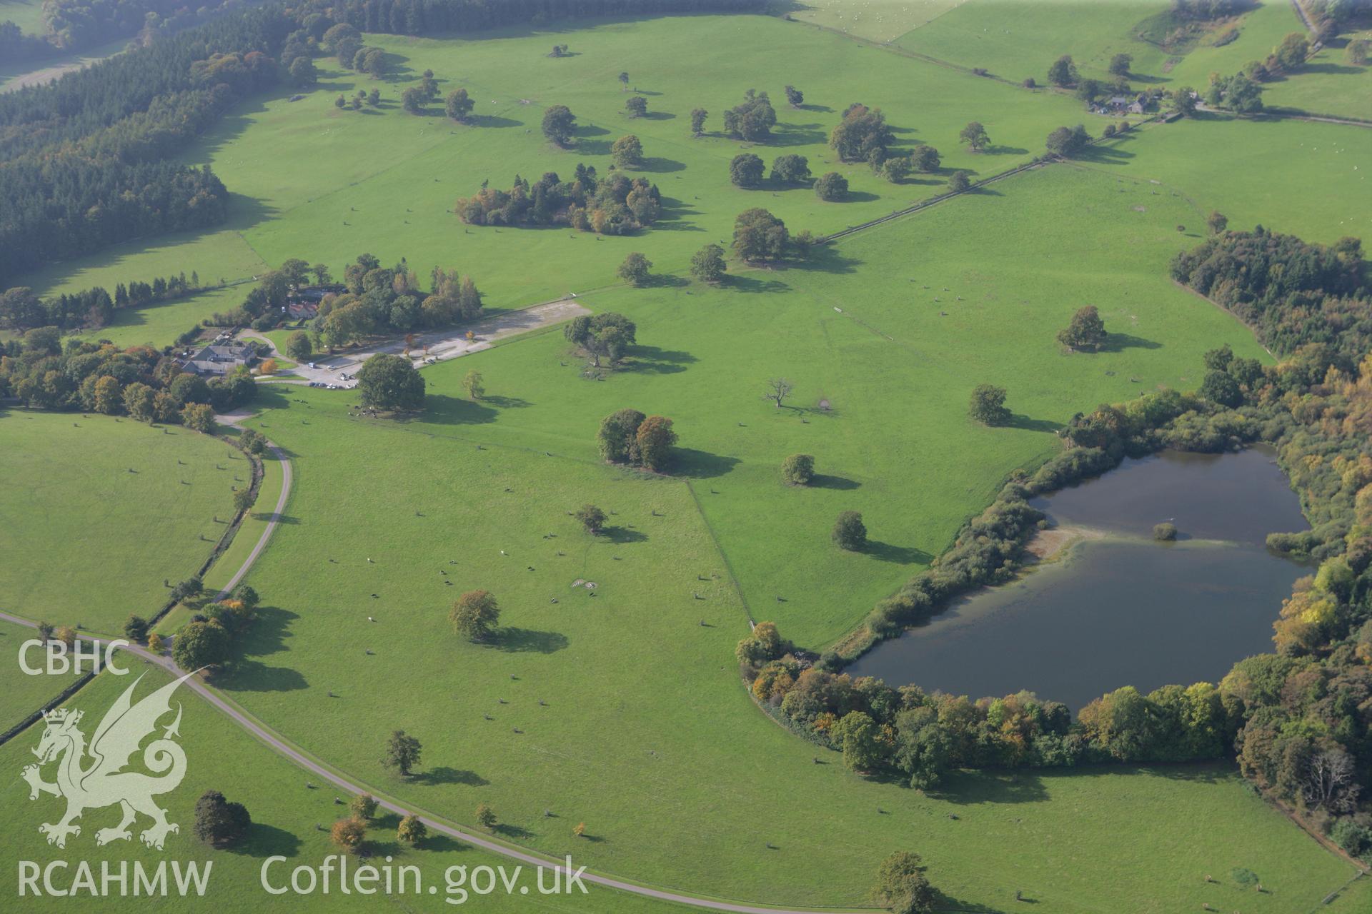
M 89 739 L 95 732 L 104 710 L 126 689 L 133 680 L 143 674 L 133 699 L 139 700 L 154 689 L 170 681 L 158 667 L 136 659 L 126 659 L 130 676 L 102 674 L 96 680 L 70 697 L 63 707 L 69 710 L 82 710 L 85 718 L 81 730 Z M 56 688 L 54 688 L 54 692 Z M 445 902 L 445 872 L 450 866 L 466 866 L 468 870 L 477 866 L 504 865 L 506 872 L 517 866 L 513 861 L 506 861 L 488 851 L 473 848 L 468 844 L 438 835 L 418 848 L 409 848 L 395 840 L 395 826 L 398 824 L 394 814 L 386 814 L 373 821 L 368 830 L 370 843 L 370 856 L 366 861 L 350 861 L 350 866 L 364 862 L 375 866 L 384 866 L 390 859 L 394 866 L 418 866 L 424 878 L 424 885 L 436 885 L 438 893 L 429 895 L 427 889 L 420 893 L 386 896 L 364 896 L 358 893 L 344 895 L 339 892 L 335 882 L 331 893 L 324 895 L 316 891 L 313 895 L 299 895 L 287 892 L 285 895 L 272 895 L 262 888 L 261 870 L 268 856 L 285 856 L 285 862 L 272 865 L 269 878 L 272 885 L 288 884 L 289 873 L 294 867 L 307 865 L 320 866 L 325 856 L 338 854 L 329 843 L 325 829 L 338 818 L 347 815 L 346 807 L 335 803 L 335 798 L 344 802 L 351 796 L 340 793 L 332 785 L 327 785 L 296 767 L 287 759 L 276 755 L 272 750 L 258 743 L 240 730 L 228 717 L 210 707 L 199 696 L 182 687 L 173 696 L 172 707 L 176 711 L 181 707 L 181 725 L 178 743 L 185 750 L 187 774 L 185 780 L 176 789 L 156 796 L 159 806 L 167 811 L 167 819 L 180 825 L 180 832 L 167 836 L 162 851 L 144 847 L 139 840 L 139 832 L 148 825 L 145 817 L 139 817 L 133 826 L 133 837 L 129 841 L 113 841 L 104 847 L 95 843 L 95 832 L 100 828 L 114 826 L 119 821 L 118 810 L 111 807 L 86 810 L 78 819 L 81 835 L 67 839 L 67 847 L 59 850 L 45 843 L 38 833 L 40 822 L 55 822 L 60 817 L 63 804 L 56 798 L 41 795 L 38 800 L 29 800 L 29 785 L 19 780 L 18 773 L 33 762 L 30 750 L 38 744 L 43 726 L 30 726 L 10 743 L 0 745 L 0 766 L 12 773 L 14 777 L 3 778 L 0 785 L 0 806 L 5 810 L 5 840 L 0 841 L 0 892 L 5 898 L 18 898 L 18 872 L 21 861 L 32 861 L 40 867 L 51 861 L 70 861 L 70 869 L 56 870 L 55 881 L 59 888 L 64 888 L 66 881 L 74 876 L 77 861 L 88 862 L 100 878 L 102 862 L 110 862 L 115 872 L 121 862 L 128 862 L 129 891 L 128 898 L 118 895 L 114 884 L 113 895 L 92 900 L 89 895 L 73 898 L 34 898 L 25 896 L 18 902 L 25 911 L 30 910 L 99 910 L 103 911 L 185 911 L 185 910 L 214 910 L 230 914 L 246 911 L 373 911 L 380 906 L 398 906 L 403 911 L 451 911 L 465 910 Z M 166 717 L 165 726 L 172 721 Z M 137 770 L 140 756 L 134 755 L 133 766 Z M 44 769 L 44 777 L 54 780 L 55 766 Z M 307 784 L 313 782 L 314 789 Z M 243 844 L 232 850 L 213 850 L 195 837 L 195 802 L 207 789 L 222 792 L 229 800 L 241 802 L 248 807 L 252 817 L 252 826 Z M 563 822 L 568 835 L 572 825 Z M 572 848 L 576 850 L 575 847 Z M 203 898 L 191 896 L 182 899 L 176 893 L 167 898 L 134 898 L 132 896 L 132 865 L 141 862 L 145 867 L 154 869 L 162 861 L 180 862 L 182 865 L 195 862 L 204 865 L 213 862 L 209 887 Z M 575 861 L 575 858 L 573 858 Z M 351 872 L 351 870 L 350 870 Z M 167 877 L 172 881 L 172 877 Z M 468 898 L 466 904 L 482 911 L 609 911 L 612 914 L 638 914 L 641 911 L 681 910 L 663 902 L 652 902 L 637 896 L 615 892 L 611 889 L 589 885 L 589 893 L 575 896 L 542 896 L 536 891 L 536 876 L 528 867 L 520 876 L 520 884 L 528 887 L 528 895 L 508 896 L 504 891 L 494 895 Z M 40 881 L 41 885 L 41 881 Z M 516 889 L 517 892 L 517 889 Z M 12 904 L 14 902 L 11 902 Z M 84 906 L 84 907 L 82 907 Z

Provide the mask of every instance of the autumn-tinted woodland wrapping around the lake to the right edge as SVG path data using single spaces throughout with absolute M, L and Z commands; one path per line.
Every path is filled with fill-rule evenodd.
M 868 615 L 844 656 L 818 659 L 760 623 L 738 645 L 755 697 L 855 770 L 934 788 L 955 767 L 1073 766 L 1238 758 L 1266 796 L 1354 855 L 1372 852 L 1372 299 L 1361 244 L 1302 243 L 1261 227 L 1220 233 L 1180 254 L 1173 275 L 1250 321 L 1280 358 L 1266 367 L 1207 352 L 1195 393 L 1163 391 L 1080 414 L 1066 448 L 1011 480 L 952 549 Z M 1269 545 L 1318 562 L 1275 622 L 1275 652 L 1240 660 L 1216 685 L 1132 687 L 1077 719 L 1030 693 L 970 700 L 893 689 L 840 669 L 845 656 L 937 613 L 973 586 L 1011 580 L 1041 526 L 1034 495 L 1163 447 L 1277 447 L 1312 530 Z M 1372 795 L 1372 793 L 1369 793 Z

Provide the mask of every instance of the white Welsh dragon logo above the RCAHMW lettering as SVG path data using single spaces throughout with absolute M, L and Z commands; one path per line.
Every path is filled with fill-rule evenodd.
M 81 711 L 67 713 L 66 708 L 58 708 L 44 714 L 47 729 L 43 730 L 38 748 L 33 750 L 38 763 L 26 766 L 22 777 L 29 782 L 30 800 L 38 799 L 38 793 L 52 793 L 67 800 L 66 815 L 59 822 L 38 826 L 38 830 L 48 836 L 48 844 L 66 847 L 69 835 L 81 835 L 81 826 L 73 825 L 73 819 L 80 818 L 85 810 L 115 803 L 123 810 L 123 818 L 115 828 L 97 830 L 96 844 L 129 840 L 132 837 L 129 826 L 133 825 L 137 813 L 152 819 L 152 825 L 139 836 L 148 847 L 162 850 L 167 833 L 181 830 L 174 822 L 167 822 L 166 810 L 152 799 L 158 793 L 174 789 L 185 777 L 185 752 L 172 740 L 180 736 L 177 730 L 181 725 L 180 704 L 176 719 L 163 730 L 162 737 L 152 740 L 143 750 L 143 765 L 161 777 L 125 771 L 123 767 L 139 751 L 144 737 L 156 729 L 158 719 L 172 713 L 172 693 L 192 676 L 193 673 L 187 673 L 133 704 L 133 689 L 143 680 L 140 676 L 106 711 L 100 726 L 95 729 L 95 736 L 91 737 L 89 747 L 85 734 L 77 729 Z M 92 759 L 89 765 L 85 765 L 86 756 Z M 56 784 L 44 781 L 40 771 L 41 766 L 52 761 L 58 762 Z

